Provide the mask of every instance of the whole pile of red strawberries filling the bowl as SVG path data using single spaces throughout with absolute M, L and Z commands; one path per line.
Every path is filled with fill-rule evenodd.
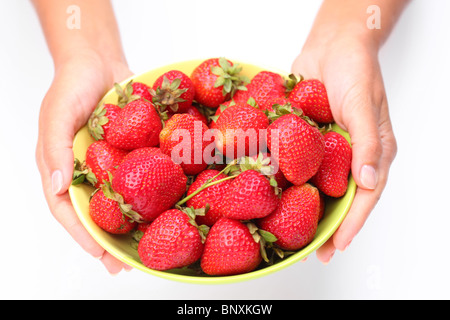
M 95 186 L 92 220 L 133 233 L 148 268 L 250 272 L 308 245 L 325 197 L 347 190 L 351 147 L 328 125 L 324 85 L 241 73 L 214 58 L 189 76 L 116 85 L 117 103 L 89 119 L 96 141 L 75 161 L 73 184 Z

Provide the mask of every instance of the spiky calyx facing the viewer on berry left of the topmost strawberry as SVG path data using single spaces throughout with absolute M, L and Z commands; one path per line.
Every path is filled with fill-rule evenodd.
M 180 97 L 187 89 L 180 89 L 180 84 L 181 79 L 176 78 L 170 82 L 170 80 L 164 76 L 160 87 L 156 90 L 149 88 L 149 92 L 153 97 L 152 102 L 159 107 L 161 112 L 164 112 L 167 108 L 173 112 L 177 112 L 178 103 L 186 101 Z

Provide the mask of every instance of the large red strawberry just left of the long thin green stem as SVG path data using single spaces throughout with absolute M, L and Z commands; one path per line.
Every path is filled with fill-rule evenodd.
M 187 177 L 169 156 L 155 152 L 122 162 L 114 174 L 112 187 L 149 222 L 182 197 Z

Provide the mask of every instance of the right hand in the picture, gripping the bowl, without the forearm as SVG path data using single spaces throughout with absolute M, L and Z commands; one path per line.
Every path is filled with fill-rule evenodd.
M 307 41 L 292 65 L 294 74 L 322 81 L 336 123 L 350 134 L 352 175 L 358 186 L 341 226 L 317 250 L 328 263 L 361 230 L 381 197 L 397 144 L 378 62 L 378 47 L 366 39 L 341 35 Z

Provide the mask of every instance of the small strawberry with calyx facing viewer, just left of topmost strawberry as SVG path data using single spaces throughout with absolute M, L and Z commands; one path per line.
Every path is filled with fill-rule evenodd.
M 158 77 L 150 89 L 152 101 L 161 111 L 169 113 L 186 112 L 195 96 L 192 80 L 179 70 L 165 72 Z

